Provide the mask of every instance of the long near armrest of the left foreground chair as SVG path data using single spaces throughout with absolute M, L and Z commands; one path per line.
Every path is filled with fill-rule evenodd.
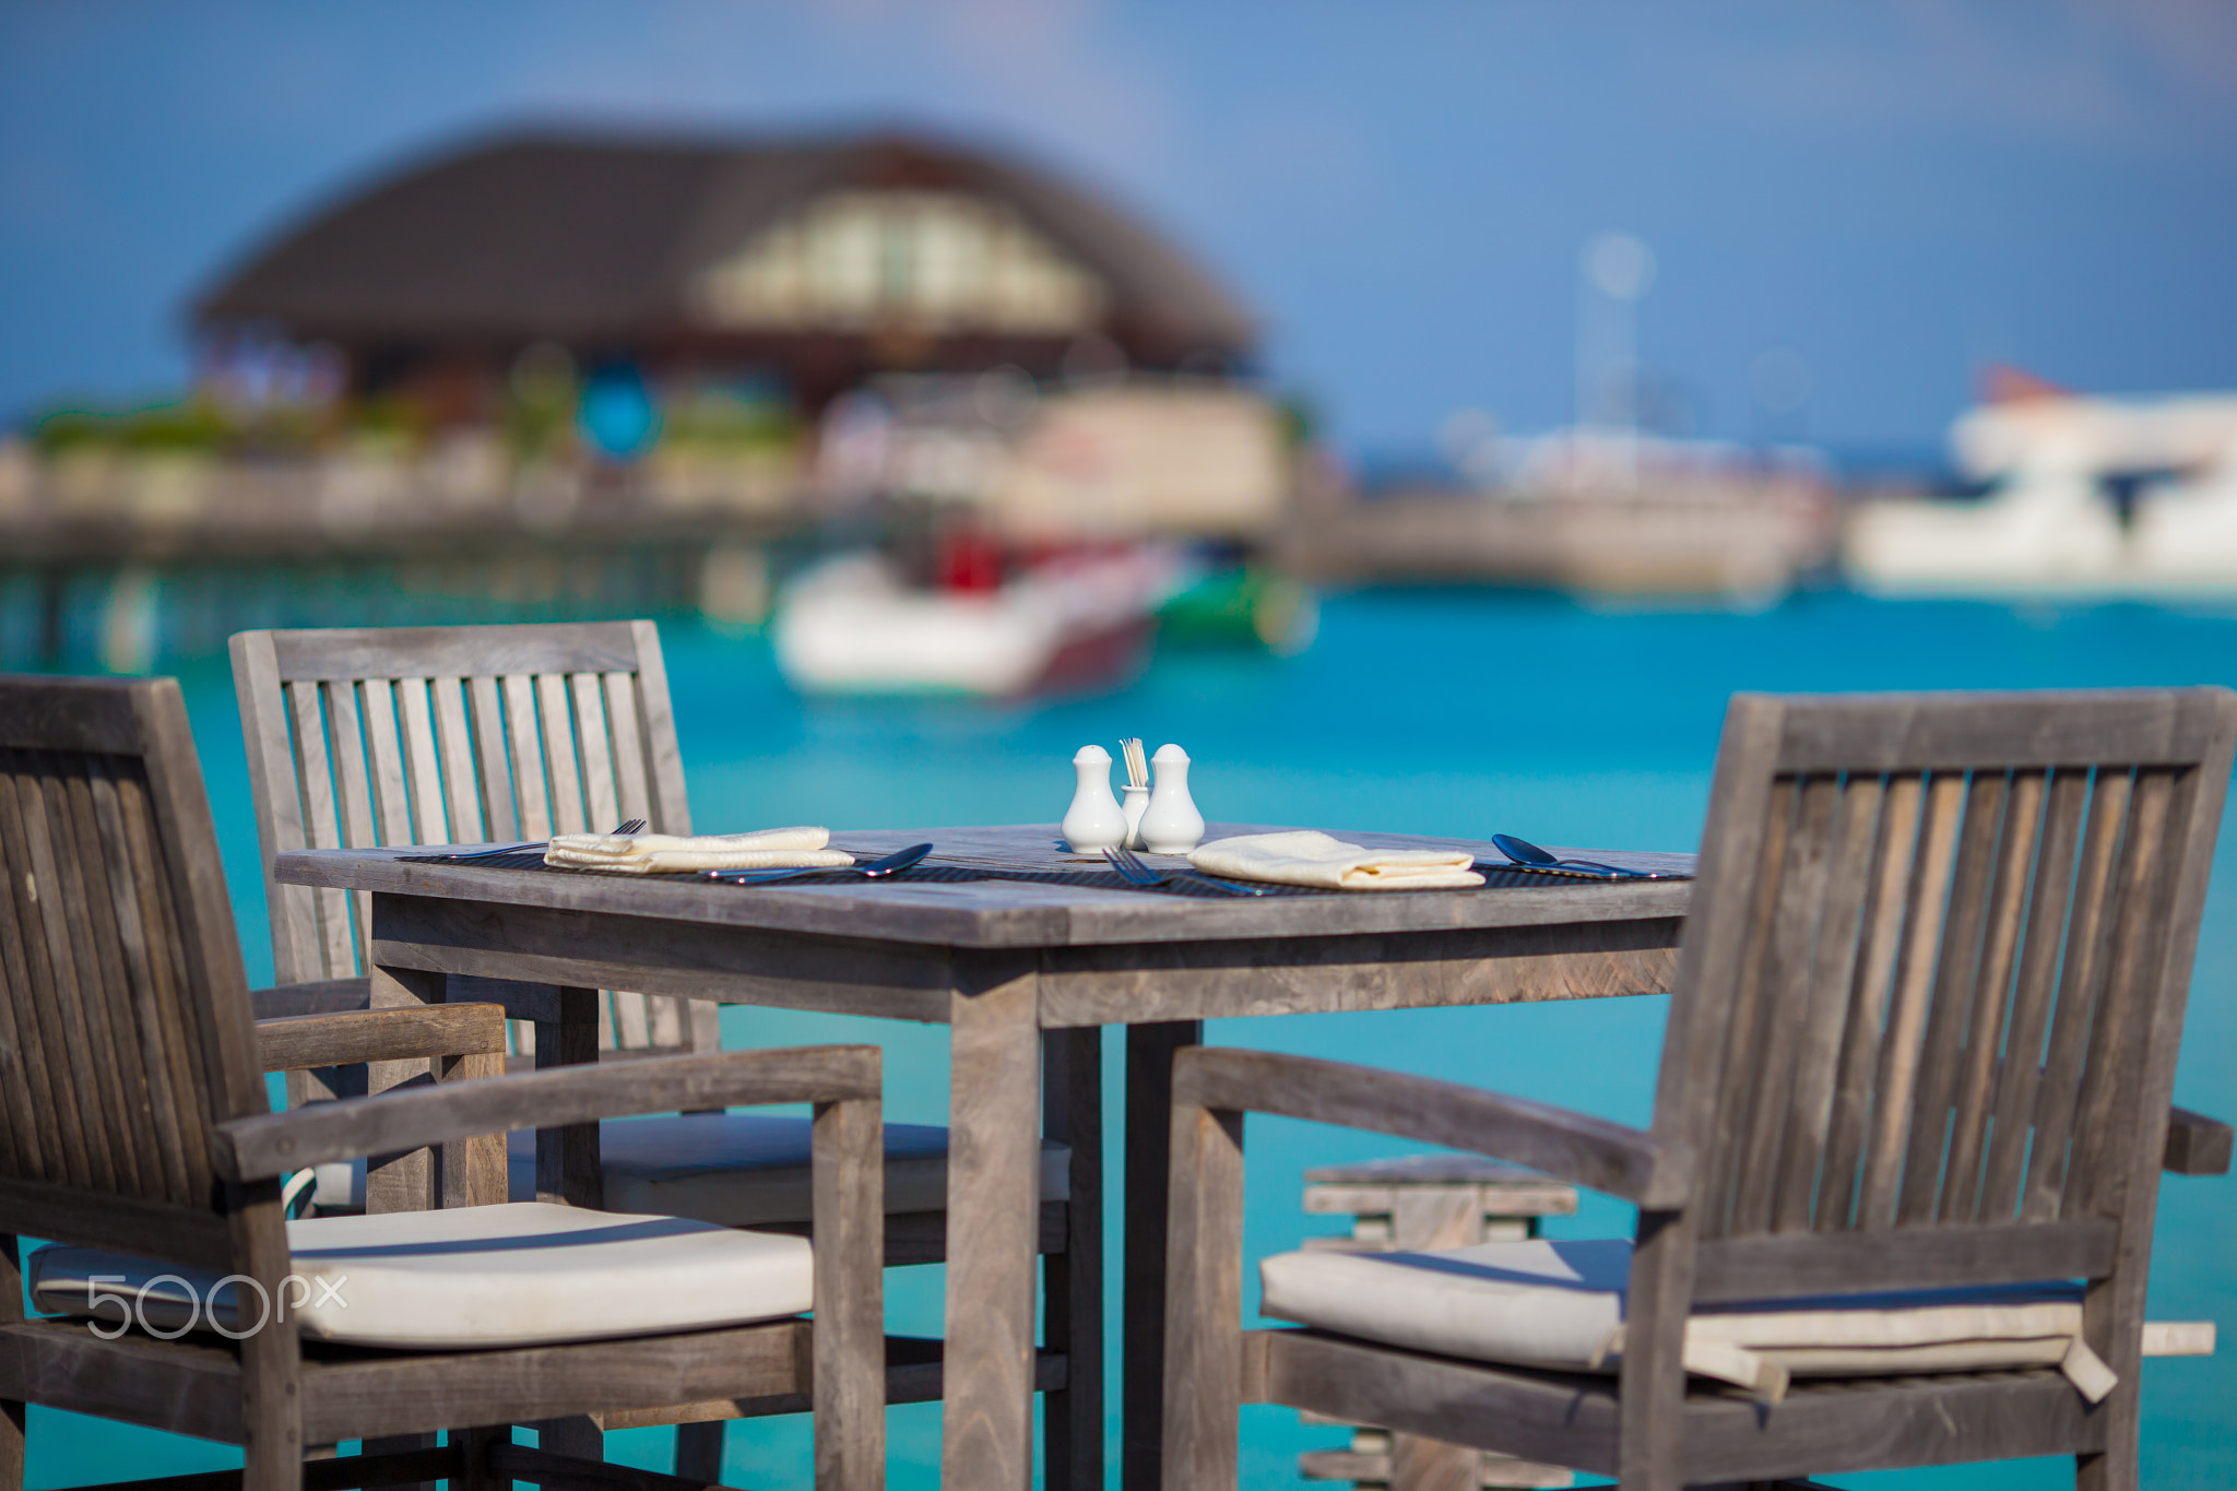
M 264 1180 L 371 1153 L 405 1153 L 481 1133 L 559 1129 L 626 1113 L 877 1100 L 877 1046 L 716 1051 L 644 1062 L 557 1066 L 517 1077 L 400 1086 L 235 1118 L 210 1131 L 226 1180 Z

